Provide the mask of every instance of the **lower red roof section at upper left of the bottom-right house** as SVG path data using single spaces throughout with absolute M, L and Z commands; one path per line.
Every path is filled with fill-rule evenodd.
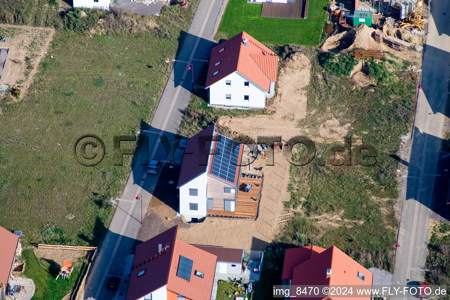
M 286 249 L 284 252 L 283 275 L 281 279 L 292 279 L 292 273 L 295 267 L 311 259 L 313 255 L 317 255 L 323 251 L 325 249 L 318 246 Z

